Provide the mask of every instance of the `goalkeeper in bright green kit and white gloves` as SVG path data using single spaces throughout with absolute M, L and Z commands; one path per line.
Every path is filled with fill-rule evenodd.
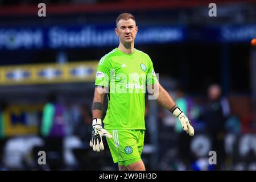
M 118 163 L 119 170 L 144 171 L 141 154 L 144 144 L 146 86 L 151 97 L 179 119 L 183 130 L 193 136 L 194 129 L 183 111 L 159 84 L 150 57 L 134 48 L 138 31 L 134 16 L 123 13 L 118 16 L 116 25 L 115 34 L 119 37 L 119 46 L 103 56 L 98 63 L 90 146 L 97 152 L 104 150 L 102 137 L 107 137 L 113 162 Z M 106 93 L 108 110 L 103 128 L 102 104 Z

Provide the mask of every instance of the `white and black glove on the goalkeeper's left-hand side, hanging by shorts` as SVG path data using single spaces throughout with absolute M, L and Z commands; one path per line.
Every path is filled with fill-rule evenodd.
M 112 135 L 108 133 L 101 126 L 101 119 L 96 118 L 92 121 L 92 139 L 90 139 L 90 147 L 93 148 L 94 151 L 100 152 L 104 150 L 104 145 L 102 142 L 102 136 L 112 138 Z

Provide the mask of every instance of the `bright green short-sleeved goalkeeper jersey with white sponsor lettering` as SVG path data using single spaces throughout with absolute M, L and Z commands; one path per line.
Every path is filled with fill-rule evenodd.
M 108 87 L 108 110 L 104 118 L 108 130 L 145 130 L 146 85 L 157 81 L 150 57 L 134 49 L 127 55 L 118 48 L 98 63 L 95 85 Z

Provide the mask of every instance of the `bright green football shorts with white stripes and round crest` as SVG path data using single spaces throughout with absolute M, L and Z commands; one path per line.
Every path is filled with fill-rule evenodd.
M 114 163 L 128 166 L 141 160 L 144 130 L 107 130 L 113 138 L 106 137 Z

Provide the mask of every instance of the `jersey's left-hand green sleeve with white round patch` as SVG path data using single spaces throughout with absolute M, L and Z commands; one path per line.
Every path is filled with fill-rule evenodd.
M 95 85 L 109 86 L 110 81 L 110 61 L 107 57 L 102 57 L 98 63 Z

